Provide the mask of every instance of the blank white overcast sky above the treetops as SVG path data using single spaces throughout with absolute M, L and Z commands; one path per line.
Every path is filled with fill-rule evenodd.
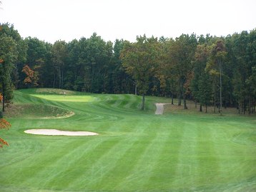
M 0 23 L 54 43 L 89 38 L 227 34 L 256 28 L 256 0 L 0 0 Z

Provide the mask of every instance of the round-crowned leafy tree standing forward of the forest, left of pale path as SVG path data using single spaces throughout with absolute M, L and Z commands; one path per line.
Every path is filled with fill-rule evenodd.
M 142 110 L 145 95 L 149 90 L 149 80 L 156 75 L 159 66 L 159 42 L 157 38 L 137 36 L 136 43 L 125 42 L 121 54 L 122 65 L 128 74 L 137 82 L 142 94 Z

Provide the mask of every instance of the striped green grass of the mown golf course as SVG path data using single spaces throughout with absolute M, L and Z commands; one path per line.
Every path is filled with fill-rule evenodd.
M 255 116 L 177 106 L 161 116 L 154 103 L 168 98 L 147 97 L 140 111 L 140 96 L 61 93 L 15 91 L 14 108 L 26 107 L 0 131 L 10 144 L 0 149 L 0 191 L 256 191 Z M 58 110 L 75 114 L 42 118 Z M 24 133 L 29 128 L 99 136 Z

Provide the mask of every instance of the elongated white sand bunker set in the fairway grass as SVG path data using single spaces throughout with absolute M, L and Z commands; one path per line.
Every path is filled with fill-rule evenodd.
M 61 131 L 57 129 L 29 129 L 25 133 L 45 136 L 97 136 L 98 133 L 88 131 Z

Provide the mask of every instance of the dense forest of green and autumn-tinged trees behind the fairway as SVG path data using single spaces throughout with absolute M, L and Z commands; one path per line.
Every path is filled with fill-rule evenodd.
M 49 44 L 0 26 L 0 100 L 14 89 L 59 88 L 106 94 L 179 98 L 200 106 L 255 112 L 256 29 L 228 36 L 182 34 L 104 41 L 96 33 Z M 144 99 L 142 100 L 144 101 Z M 143 103 L 143 102 L 142 102 Z M 142 105 L 143 108 L 143 105 Z M 199 108 L 202 110 L 202 107 Z M 207 110 L 207 108 L 206 108 Z

